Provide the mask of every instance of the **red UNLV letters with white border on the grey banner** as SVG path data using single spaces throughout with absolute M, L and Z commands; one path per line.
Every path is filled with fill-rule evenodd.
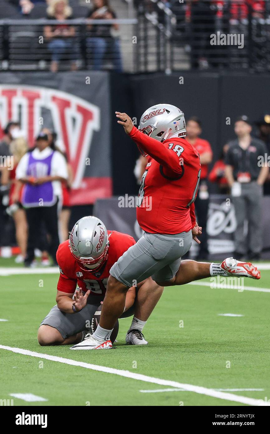
M 98 106 L 67 92 L 28 85 L 0 85 L 0 105 L 2 129 L 10 119 L 19 119 L 21 113 L 21 129 L 30 147 L 43 126 L 44 110 L 49 110 L 74 171 L 72 187 L 80 188 L 93 133 L 100 129 Z

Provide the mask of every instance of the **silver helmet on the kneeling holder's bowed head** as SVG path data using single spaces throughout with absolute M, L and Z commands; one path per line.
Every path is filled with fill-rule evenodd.
M 79 266 L 97 271 L 107 260 L 108 233 L 104 223 L 97 217 L 86 216 L 78 220 L 72 228 L 68 244 Z

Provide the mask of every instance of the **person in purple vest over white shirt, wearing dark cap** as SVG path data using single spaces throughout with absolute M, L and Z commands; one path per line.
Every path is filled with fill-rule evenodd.
M 58 214 L 61 210 L 61 181 L 68 179 L 67 164 L 61 152 L 49 144 L 48 135 L 39 133 L 36 146 L 20 160 L 16 169 L 16 179 L 22 181 L 22 204 L 26 208 L 28 223 L 27 252 L 25 266 L 33 265 L 36 236 L 42 221 L 49 235 L 48 250 L 56 263 L 59 246 Z

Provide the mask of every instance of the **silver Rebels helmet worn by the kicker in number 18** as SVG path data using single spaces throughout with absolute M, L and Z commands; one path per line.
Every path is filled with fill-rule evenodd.
M 184 113 L 175 105 L 153 105 L 140 118 L 139 130 L 161 142 L 172 137 L 185 137 Z

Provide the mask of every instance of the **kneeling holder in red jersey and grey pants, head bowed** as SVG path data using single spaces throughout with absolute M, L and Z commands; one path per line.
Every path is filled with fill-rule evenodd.
M 40 345 L 79 344 L 88 335 L 94 313 L 106 292 L 109 271 L 135 240 L 130 235 L 107 231 L 96 217 L 83 217 L 69 240 L 60 244 L 56 259 L 60 269 L 57 305 L 43 319 L 38 331 Z M 75 291 L 77 285 L 79 290 Z M 163 292 L 151 278 L 130 285 L 120 317 L 133 316 L 126 342 L 146 345 L 142 330 Z M 76 347 L 75 349 L 87 349 Z

